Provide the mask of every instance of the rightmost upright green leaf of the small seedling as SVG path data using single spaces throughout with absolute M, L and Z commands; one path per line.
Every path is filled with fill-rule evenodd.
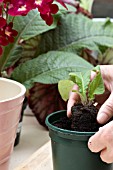
M 98 71 L 98 68 L 97 68 L 97 71 Z M 104 87 L 103 79 L 101 76 L 101 72 L 98 71 L 96 73 L 95 78 L 91 81 L 89 85 L 89 91 L 88 91 L 89 100 L 93 101 L 95 98 L 95 95 L 103 94 L 104 91 L 105 91 L 105 87 Z

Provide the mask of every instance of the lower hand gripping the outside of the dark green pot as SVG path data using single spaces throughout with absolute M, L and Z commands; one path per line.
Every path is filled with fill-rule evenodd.
M 113 162 L 113 121 L 99 128 L 99 131 L 90 137 L 88 147 L 92 152 L 100 152 L 103 162 Z

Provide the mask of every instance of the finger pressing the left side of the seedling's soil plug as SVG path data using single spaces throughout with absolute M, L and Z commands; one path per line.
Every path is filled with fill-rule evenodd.
M 78 90 L 78 86 L 75 84 L 72 90 Z M 70 92 L 70 97 L 67 103 L 67 116 L 71 116 L 71 107 L 80 100 L 79 95 L 76 92 Z

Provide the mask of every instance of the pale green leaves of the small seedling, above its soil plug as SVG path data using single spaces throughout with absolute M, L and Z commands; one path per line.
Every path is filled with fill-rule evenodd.
M 96 73 L 92 80 L 90 79 L 91 71 Z M 77 84 L 78 90 L 72 90 L 74 84 Z M 72 91 L 80 96 L 83 105 L 92 105 L 95 95 L 103 94 L 105 91 L 100 67 L 96 66 L 86 72 L 70 73 L 69 80 L 59 81 L 58 89 L 64 101 L 69 99 L 69 93 Z

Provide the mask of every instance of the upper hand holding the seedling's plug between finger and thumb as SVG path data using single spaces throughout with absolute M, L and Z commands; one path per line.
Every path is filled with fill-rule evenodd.
M 105 84 L 105 93 L 96 96 L 96 102 L 99 112 L 97 115 L 97 121 L 100 124 L 106 123 L 113 116 L 113 66 L 102 65 L 100 66 L 101 74 Z M 94 72 L 91 74 L 91 79 L 94 77 Z M 75 85 L 74 90 L 78 87 Z M 71 107 L 80 100 L 79 96 L 75 92 L 70 93 L 70 97 L 67 104 L 67 116 L 71 116 Z

